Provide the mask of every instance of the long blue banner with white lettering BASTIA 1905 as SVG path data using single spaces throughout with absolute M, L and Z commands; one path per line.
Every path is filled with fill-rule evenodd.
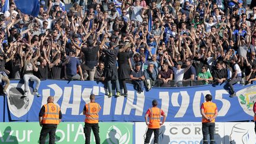
M 152 100 L 158 100 L 158 107 L 167 114 L 167 121 L 201 121 L 200 105 L 206 94 L 213 95 L 219 115 L 216 121 L 252 120 L 252 106 L 256 99 L 256 85 L 235 85 L 238 97 L 229 98 L 223 85 L 203 85 L 185 88 L 152 88 L 151 91 L 137 93 L 133 85 L 127 84 L 128 97 L 105 95 L 103 84 L 95 81 L 41 81 L 39 93 L 33 95 L 30 84 L 28 97 L 23 98 L 23 82 L 11 81 L 8 88 L 8 108 L 11 120 L 37 121 L 40 108 L 47 97 L 55 97 L 59 104 L 63 121 L 84 121 L 82 111 L 89 103 L 89 95 L 96 95 L 96 102 L 102 107 L 100 121 L 144 121 L 145 113 L 152 107 Z

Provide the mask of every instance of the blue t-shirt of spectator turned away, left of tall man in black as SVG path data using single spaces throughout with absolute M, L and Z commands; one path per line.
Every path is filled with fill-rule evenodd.
M 67 75 L 76 75 L 76 66 L 80 65 L 80 61 L 76 57 L 71 57 L 69 63 L 66 64 Z

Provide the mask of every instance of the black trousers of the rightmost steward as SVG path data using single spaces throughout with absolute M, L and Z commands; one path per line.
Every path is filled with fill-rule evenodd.
M 215 123 L 202 123 L 203 131 L 203 144 L 208 144 L 207 136 L 210 134 L 210 144 L 215 143 L 214 132 L 215 132 Z

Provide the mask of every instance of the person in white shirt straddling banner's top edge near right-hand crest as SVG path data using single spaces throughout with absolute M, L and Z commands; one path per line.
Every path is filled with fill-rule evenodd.
M 230 96 L 229 97 L 235 97 L 236 93 L 235 90 L 233 89 L 233 84 L 236 84 L 236 82 L 241 81 L 242 79 L 242 72 L 241 69 L 239 68 L 239 65 L 236 63 L 236 57 L 233 56 L 230 59 L 230 62 L 232 64 L 232 76 L 231 76 L 231 80 L 224 86 L 225 89 L 229 89 L 230 90 Z

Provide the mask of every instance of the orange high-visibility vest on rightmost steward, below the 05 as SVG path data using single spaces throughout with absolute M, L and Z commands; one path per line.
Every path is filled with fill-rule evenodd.
M 207 117 L 213 117 L 215 115 L 215 110 L 217 108 L 215 103 L 212 103 L 211 101 L 207 101 L 203 103 L 204 108 L 204 114 L 206 114 Z M 202 117 L 202 123 L 209 123 L 210 121 Z M 215 123 L 215 119 L 211 121 L 211 123 Z

